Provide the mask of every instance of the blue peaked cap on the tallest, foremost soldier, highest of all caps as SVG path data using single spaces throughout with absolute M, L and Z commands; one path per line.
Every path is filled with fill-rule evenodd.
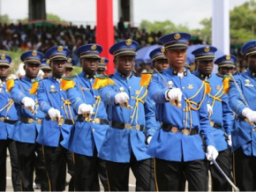
M 163 35 L 159 41 L 166 50 L 183 49 L 188 48 L 188 41 L 190 41 L 191 37 L 192 36 L 189 33 L 169 33 Z

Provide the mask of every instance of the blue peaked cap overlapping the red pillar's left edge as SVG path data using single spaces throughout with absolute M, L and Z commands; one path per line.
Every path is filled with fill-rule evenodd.
M 75 55 L 79 58 L 100 58 L 101 53 L 102 46 L 95 43 L 82 45 L 75 51 Z

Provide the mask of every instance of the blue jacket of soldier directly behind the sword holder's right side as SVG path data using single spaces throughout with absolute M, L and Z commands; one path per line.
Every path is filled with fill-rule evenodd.
M 199 70 L 196 70 L 193 74 L 200 78 Z M 231 132 L 234 119 L 233 111 L 229 105 L 229 96 L 223 92 L 222 78 L 219 78 L 215 73 L 211 73 L 207 81 L 211 85 L 211 92 L 207 96 L 207 103 L 213 107 L 213 114 L 210 116 L 210 121 L 222 125 L 222 129 L 211 127 L 211 132 L 214 134 L 217 151 L 223 151 L 229 147 L 226 137 Z

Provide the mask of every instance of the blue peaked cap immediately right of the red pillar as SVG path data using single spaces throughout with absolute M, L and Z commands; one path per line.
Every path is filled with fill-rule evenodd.
M 109 48 L 109 53 L 114 56 L 123 55 L 136 55 L 136 49 L 139 47 L 138 42 L 128 39 L 126 41 L 120 41 Z

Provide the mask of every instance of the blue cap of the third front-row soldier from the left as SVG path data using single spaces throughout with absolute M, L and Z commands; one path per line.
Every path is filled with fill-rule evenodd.
M 70 53 L 71 51 L 66 47 L 54 46 L 46 51 L 45 57 L 49 59 L 49 62 L 52 60 L 67 60 Z

